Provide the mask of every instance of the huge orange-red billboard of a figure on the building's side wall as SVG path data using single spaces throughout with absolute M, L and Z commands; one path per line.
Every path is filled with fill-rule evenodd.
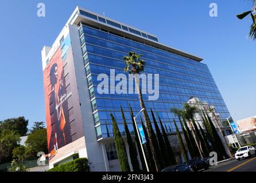
M 73 97 L 76 93 L 74 92 L 76 86 L 71 85 L 70 81 L 72 59 L 71 41 L 68 34 L 65 39 L 61 40 L 59 48 L 44 69 L 46 128 L 48 153 L 51 154 L 51 157 L 55 156 L 60 148 L 84 136 L 81 130 L 77 132 L 77 128 L 83 128 L 81 128 L 82 124 L 79 123 L 79 120 L 76 119 L 76 115 L 73 114 L 75 110 L 79 111 L 80 109 L 73 106 L 74 103 L 79 104 L 79 102 L 76 101 L 77 97 Z M 71 61 L 69 68 L 67 67 L 68 61 Z M 69 74 L 68 81 L 66 81 L 67 73 Z M 67 148 L 65 149 L 67 150 Z

